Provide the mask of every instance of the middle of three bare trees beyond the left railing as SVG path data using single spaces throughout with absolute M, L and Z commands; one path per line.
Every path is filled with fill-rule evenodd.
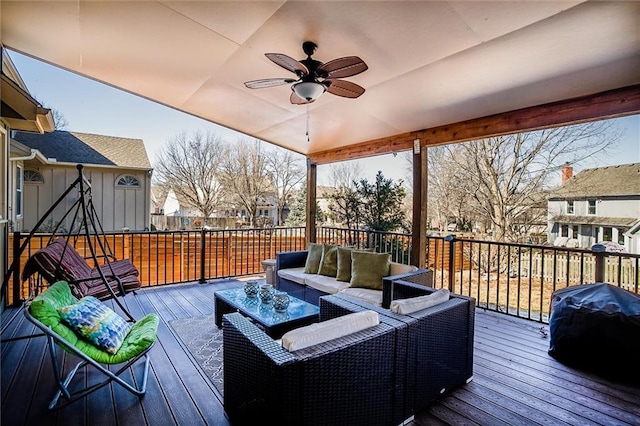
M 262 143 L 241 139 L 230 144 L 219 176 L 228 197 L 247 210 L 250 225 L 253 225 L 259 203 L 266 201 L 272 190 Z

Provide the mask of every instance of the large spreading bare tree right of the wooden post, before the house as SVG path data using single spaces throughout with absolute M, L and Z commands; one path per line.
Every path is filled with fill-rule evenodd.
M 456 168 L 454 186 L 462 185 L 466 206 L 484 218 L 494 239 L 513 241 L 515 224 L 535 218 L 527 213 L 564 163 L 605 153 L 619 138 L 611 121 L 590 122 L 446 146 L 441 161 Z

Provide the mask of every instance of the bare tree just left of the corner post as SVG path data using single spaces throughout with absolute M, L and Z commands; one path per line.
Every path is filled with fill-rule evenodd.
M 267 152 L 265 161 L 275 194 L 278 210 L 277 224 L 282 225 L 284 207 L 295 191 L 295 187 L 305 177 L 304 163 L 301 156 L 280 148 Z

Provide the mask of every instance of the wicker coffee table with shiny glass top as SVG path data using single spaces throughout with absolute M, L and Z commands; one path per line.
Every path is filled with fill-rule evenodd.
M 250 318 L 270 337 L 279 339 L 287 331 L 318 322 L 320 309 L 295 297 L 286 312 L 276 312 L 272 305 L 260 303 L 260 299 L 248 298 L 244 289 L 220 290 L 214 293 L 216 326 L 222 327 L 222 316 L 231 312 L 240 312 Z

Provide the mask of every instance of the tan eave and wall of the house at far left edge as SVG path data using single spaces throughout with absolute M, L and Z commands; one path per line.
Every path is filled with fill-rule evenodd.
M 18 70 L 0 45 L 0 271 L 6 276 L 9 233 L 22 220 L 22 170 L 24 161 L 14 153 L 11 134 L 15 130 L 44 133 L 54 129 L 51 110 L 44 108 L 29 93 Z M 4 288 L 3 288 L 4 290 Z M 5 293 L 0 296 L 0 311 L 4 309 Z

